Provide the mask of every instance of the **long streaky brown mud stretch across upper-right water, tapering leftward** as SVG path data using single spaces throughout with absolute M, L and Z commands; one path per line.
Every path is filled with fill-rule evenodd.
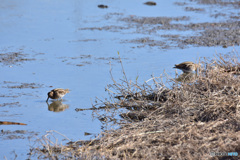
M 235 17 L 236 18 L 236 17 Z M 238 17 L 240 18 L 240 16 Z M 229 20 L 226 22 L 218 23 L 190 23 L 179 24 L 170 23 L 172 20 L 187 20 L 186 17 L 182 18 L 167 18 L 167 17 L 128 17 L 121 19 L 128 23 L 128 27 L 120 26 L 105 26 L 100 28 L 87 28 L 90 30 L 107 30 L 118 31 L 136 28 L 138 34 L 157 34 L 161 30 L 177 30 L 177 31 L 193 31 L 193 35 L 181 34 L 162 34 L 160 35 L 165 40 L 155 40 L 150 36 L 145 38 L 128 39 L 122 43 L 135 43 L 139 44 L 138 47 L 150 46 L 159 47 L 162 49 L 170 48 L 186 48 L 190 46 L 239 46 L 240 40 L 240 22 Z M 147 25 L 148 24 L 148 25 Z M 153 26 L 149 26 L 153 24 Z M 86 29 L 86 28 L 82 28 Z

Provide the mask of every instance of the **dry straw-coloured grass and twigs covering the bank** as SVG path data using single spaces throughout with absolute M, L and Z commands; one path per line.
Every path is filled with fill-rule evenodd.
M 32 152 L 52 159 L 239 158 L 237 154 L 217 156 L 240 154 L 239 55 L 236 51 L 218 54 L 199 64 L 194 76 L 187 74 L 179 80 L 163 74 L 142 85 L 137 79 L 129 81 L 123 70 L 124 79 L 117 82 L 112 77 L 113 84 L 106 88 L 109 99 L 92 107 L 94 112 L 99 108 L 107 112 L 127 109 L 119 113 L 124 121 L 118 123 L 118 129 L 67 145 L 44 136 L 40 147 Z M 109 117 L 104 118 L 107 122 Z

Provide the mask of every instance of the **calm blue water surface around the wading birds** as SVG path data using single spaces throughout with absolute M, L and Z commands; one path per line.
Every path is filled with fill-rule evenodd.
M 122 78 L 118 51 L 128 78 L 138 76 L 143 83 L 164 70 L 174 77 L 176 63 L 231 52 L 231 45 L 239 48 L 234 37 L 204 45 L 200 42 L 212 39 L 202 34 L 203 40 L 197 41 L 201 31 L 213 25 L 231 30 L 239 16 L 236 4 L 157 1 L 156 6 L 148 6 L 144 2 L 1 2 L 0 121 L 27 125 L 0 126 L 0 159 L 28 158 L 32 139 L 49 130 L 71 140 L 94 138 L 101 132 L 101 122 L 91 111 L 75 109 L 92 107 L 96 96 L 107 97 L 110 61 L 115 79 Z M 188 25 L 193 23 L 198 25 Z M 71 92 L 61 103 L 47 104 L 47 92 L 53 88 Z M 93 134 L 84 136 L 84 132 Z

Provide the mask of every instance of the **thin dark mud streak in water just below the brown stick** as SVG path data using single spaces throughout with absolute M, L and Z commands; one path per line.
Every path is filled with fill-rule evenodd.
M 26 130 L 1 130 L 0 132 L 0 139 L 1 140 L 14 140 L 14 139 L 29 139 L 34 136 L 37 136 L 38 133 L 30 132 Z

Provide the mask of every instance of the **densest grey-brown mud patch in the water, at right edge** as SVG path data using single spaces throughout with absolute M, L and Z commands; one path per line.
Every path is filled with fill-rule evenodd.
M 199 23 L 186 25 L 186 28 L 204 30 L 193 36 L 181 36 L 171 39 L 179 46 L 239 46 L 240 22 L 228 21 L 220 23 Z

